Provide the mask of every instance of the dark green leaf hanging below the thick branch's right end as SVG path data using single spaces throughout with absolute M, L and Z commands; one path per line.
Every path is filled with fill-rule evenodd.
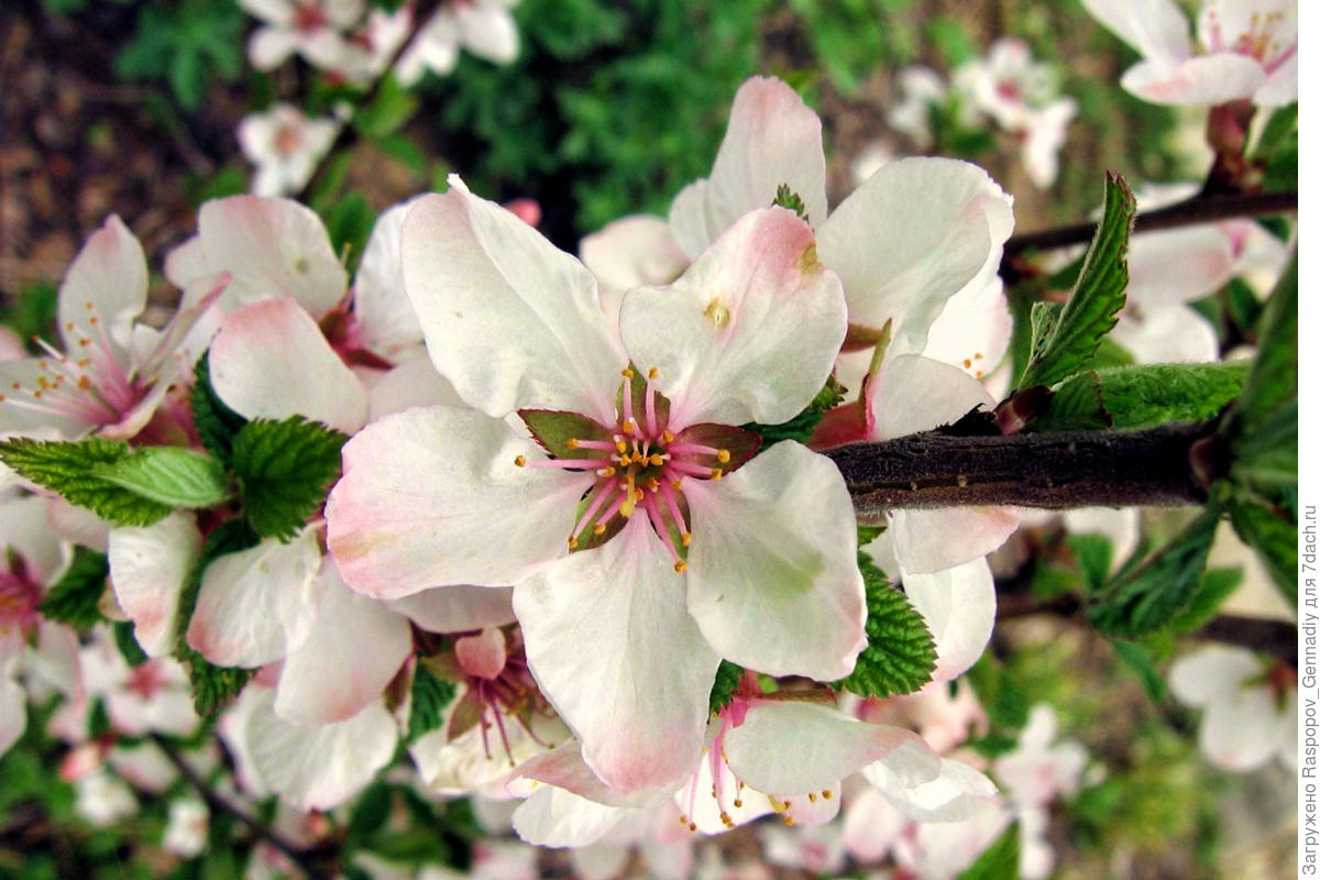
M 1218 521 L 1220 511 L 1210 504 L 1138 567 L 1115 578 L 1106 595 L 1089 610 L 1092 624 L 1122 637 L 1168 625 L 1196 595 Z

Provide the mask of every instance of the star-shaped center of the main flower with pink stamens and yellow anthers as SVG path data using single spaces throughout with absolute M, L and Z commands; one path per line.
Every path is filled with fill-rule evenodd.
M 550 458 L 529 462 L 519 455 L 513 463 L 595 474 L 582 496 L 569 550 L 599 546 L 640 511 L 681 574 L 692 544 L 684 484 L 719 480 L 756 453 L 760 438 L 730 425 L 672 424 L 669 401 L 655 387 L 657 376 L 652 367 L 639 381 L 632 367 L 623 369 L 611 426 L 577 413 L 521 410 Z

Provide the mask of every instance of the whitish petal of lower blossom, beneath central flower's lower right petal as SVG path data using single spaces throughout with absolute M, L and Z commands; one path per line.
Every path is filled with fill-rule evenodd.
M 803 793 L 832 788 L 838 780 L 902 752 L 919 782 L 933 780 L 940 757 L 912 731 L 867 724 L 816 703 L 764 702 L 725 735 L 733 772 L 758 792 Z

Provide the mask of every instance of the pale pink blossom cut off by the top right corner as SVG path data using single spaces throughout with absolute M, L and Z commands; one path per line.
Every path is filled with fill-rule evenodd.
M 1275 107 L 1298 99 L 1295 0 L 1204 0 L 1196 45 L 1172 0 L 1082 0 L 1142 61 L 1123 88 L 1156 104 Z

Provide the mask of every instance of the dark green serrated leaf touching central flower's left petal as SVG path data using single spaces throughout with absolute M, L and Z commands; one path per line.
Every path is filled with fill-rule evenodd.
M 243 486 L 243 512 L 252 529 L 281 541 L 297 534 L 325 503 L 347 439 L 301 416 L 244 425 L 234 438 L 234 472 Z

